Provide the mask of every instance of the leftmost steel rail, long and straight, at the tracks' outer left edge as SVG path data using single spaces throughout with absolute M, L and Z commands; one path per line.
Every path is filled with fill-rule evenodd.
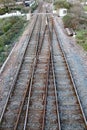
M 35 25 L 36 25 L 36 22 L 37 22 L 37 18 L 38 18 L 38 17 L 36 17 L 36 19 L 35 19 L 35 23 L 33 24 L 32 31 L 31 31 L 31 33 L 30 33 L 30 35 L 29 35 L 29 41 L 28 41 L 28 44 L 29 44 L 29 42 L 30 42 L 30 40 L 31 40 L 31 37 L 32 37 L 33 31 L 34 31 L 34 28 L 35 28 Z M 27 44 L 27 46 L 28 46 L 28 44 Z M 8 96 L 7 96 L 7 99 L 6 99 L 5 106 L 4 106 L 3 111 L 2 111 L 2 114 L 1 114 L 1 116 L 0 116 L 0 123 L 2 122 L 3 115 L 4 115 L 4 112 L 5 112 L 5 110 L 6 110 L 6 107 L 7 107 L 8 101 L 9 101 L 9 98 L 10 98 L 10 96 L 11 96 L 11 93 L 12 93 L 13 88 L 14 88 L 14 86 L 15 86 L 16 80 L 17 80 L 17 78 L 18 78 L 18 74 L 19 74 L 20 68 L 21 68 L 22 63 L 23 63 L 23 58 L 24 58 L 24 56 L 25 56 L 25 53 L 26 53 L 26 50 L 27 50 L 27 46 L 26 46 L 26 49 L 25 49 L 25 51 L 24 51 L 24 53 L 23 53 L 21 63 L 20 63 L 19 66 L 18 66 L 18 69 L 17 69 L 16 75 L 15 75 L 15 79 L 13 80 L 13 84 L 12 84 L 12 86 L 11 86 L 11 88 L 10 88 L 9 93 L 8 93 Z

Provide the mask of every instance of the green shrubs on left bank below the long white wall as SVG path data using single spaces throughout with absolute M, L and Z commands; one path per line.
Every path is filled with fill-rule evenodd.
M 4 24 L 7 21 L 8 24 L 4 27 L 4 34 L 0 36 L 0 66 L 6 59 L 8 52 L 12 47 L 12 41 L 14 37 L 19 34 L 25 23 L 25 20 L 20 17 L 7 19 L 6 21 L 4 21 Z

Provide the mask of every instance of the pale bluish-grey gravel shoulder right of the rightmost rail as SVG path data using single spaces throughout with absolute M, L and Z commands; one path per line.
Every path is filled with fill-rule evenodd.
M 54 19 L 87 119 L 87 52 L 76 43 L 74 37 L 67 36 L 61 18 Z

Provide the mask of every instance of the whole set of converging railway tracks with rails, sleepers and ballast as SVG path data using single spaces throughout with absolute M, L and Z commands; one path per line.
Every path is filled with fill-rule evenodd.
M 0 130 L 87 130 L 54 18 L 43 11 L 33 14 L 29 41 L 0 115 Z

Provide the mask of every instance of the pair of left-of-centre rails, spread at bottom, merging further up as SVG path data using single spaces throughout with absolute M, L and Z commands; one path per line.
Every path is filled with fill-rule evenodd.
M 34 75 L 34 70 L 37 64 L 37 59 L 38 59 L 38 55 L 40 54 L 41 48 L 42 48 L 42 43 L 44 40 L 44 34 L 45 34 L 45 24 L 44 24 L 44 20 L 45 17 L 42 17 L 42 28 L 41 28 L 41 33 L 40 33 L 40 41 L 39 41 L 39 46 L 38 46 L 38 50 L 37 50 L 37 56 L 35 58 L 34 64 L 33 64 L 33 71 L 32 71 L 32 76 L 31 76 L 31 81 L 30 81 L 30 88 L 27 90 L 26 93 L 26 97 L 25 100 L 22 104 L 22 108 L 20 111 L 20 114 L 17 118 L 17 122 L 15 125 L 15 130 L 21 130 L 21 129 L 26 129 L 26 125 L 27 125 L 27 118 L 28 118 L 28 107 L 29 107 L 29 98 L 30 98 L 30 92 L 31 92 L 31 87 L 32 87 L 32 81 L 33 81 L 33 75 Z

